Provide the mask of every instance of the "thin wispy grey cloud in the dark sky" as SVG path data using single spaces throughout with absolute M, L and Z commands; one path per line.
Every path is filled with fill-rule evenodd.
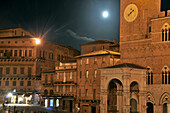
M 73 38 L 79 39 L 79 40 L 95 41 L 93 38 L 88 38 L 88 37 L 79 36 L 79 35 L 77 35 L 75 32 L 73 32 L 73 31 L 70 30 L 70 29 L 68 29 L 67 32 L 70 34 L 70 36 L 72 36 Z

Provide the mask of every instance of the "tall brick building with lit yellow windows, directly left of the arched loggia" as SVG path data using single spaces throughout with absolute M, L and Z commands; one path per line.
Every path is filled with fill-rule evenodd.
M 112 51 L 113 49 L 118 51 L 118 47 L 117 43 L 105 40 L 81 46 L 82 54 L 76 57 L 77 101 L 81 113 L 100 113 L 101 77 L 98 69 L 113 66 L 119 62 L 120 53 Z

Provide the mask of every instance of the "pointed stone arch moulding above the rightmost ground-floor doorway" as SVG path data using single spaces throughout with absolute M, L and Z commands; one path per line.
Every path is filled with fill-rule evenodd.
M 169 101 L 170 101 L 170 95 L 169 95 L 169 93 L 165 92 L 161 95 L 159 104 L 163 105 L 164 103 L 169 103 Z

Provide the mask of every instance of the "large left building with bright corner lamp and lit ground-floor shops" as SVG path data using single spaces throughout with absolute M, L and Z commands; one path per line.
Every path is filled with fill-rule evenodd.
M 39 104 L 41 72 L 54 70 L 60 60 L 78 54 L 71 47 L 36 38 L 22 28 L 1 29 L 0 103 Z

